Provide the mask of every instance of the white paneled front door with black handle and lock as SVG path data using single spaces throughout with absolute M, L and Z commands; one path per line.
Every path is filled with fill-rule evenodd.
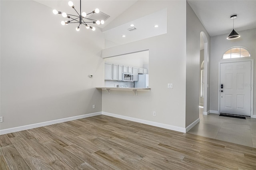
M 250 116 L 251 61 L 220 63 L 220 113 Z

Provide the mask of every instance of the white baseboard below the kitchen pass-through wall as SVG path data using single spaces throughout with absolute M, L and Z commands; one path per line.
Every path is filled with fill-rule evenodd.
M 128 121 L 143 123 L 143 124 L 146 124 L 146 125 L 151 125 L 151 126 L 155 126 L 155 127 L 166 128 L 166 129 L 169 129 L 169 130 L 174 130 L 174 131 L 186 133 L 186 128 L 182 128 L 182 127 L 176 127 L 176 126 L 172 126 L 172 125 L 166 125 L 166 124 L 163 124 L 163 123 L 146 121 L 146 120 L 143 120 L 143 119 L 137 119 L 137 118 L 127 117 L 127 116 L 122 116 L 122 115 L 116 115 L 116 114 L 107 113 L 107 112 L 102 112 L 102 115 L 116 117 L 116 118 L 119 118 L 119 119 L 124 119 L 124 120 L 128 120 Z

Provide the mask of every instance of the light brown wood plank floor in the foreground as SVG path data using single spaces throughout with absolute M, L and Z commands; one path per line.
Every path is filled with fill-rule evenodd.
M 256 148 L 104 115 L 0 136 L 0 170 L 256 169 Z

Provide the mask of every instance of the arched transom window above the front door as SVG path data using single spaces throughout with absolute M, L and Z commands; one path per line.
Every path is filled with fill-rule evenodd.
M 244 47 L 232 47 L 223 54 L 223 59 L 250 57 L 249 51 Z

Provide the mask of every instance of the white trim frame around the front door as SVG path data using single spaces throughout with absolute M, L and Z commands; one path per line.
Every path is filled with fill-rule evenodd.
M 244 57 L 243 57 L 244 58 Z M 226 59 L 224 59 L 226 60 Z M 254 80 L 254 59 L 234 59 L 234 60 L 229 60 L 229 61 L 220 61 L 219 62 L 219 71 L 218 71 L 218 113 L 220 113 L 220 64 L 221 63 L 234 63 L 234 62 L 243 62 L 243 61 L 251 61 L 251 85 L 253 85 L 253 80 Z M 253 89 L 254 86 L 251 86 L 251 117 L 254 117 L 253 115 Z M 211 112 L 212 113 L 212 112 Z

